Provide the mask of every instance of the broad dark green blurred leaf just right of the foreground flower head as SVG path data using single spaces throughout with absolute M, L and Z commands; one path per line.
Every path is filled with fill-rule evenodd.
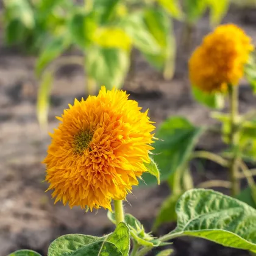
M 185 165 L 203 131 L 204 127 L 195 127 L 180 116 L 172 116 L 162 123 L 155 135 L 160 140 L 154 143 L 153 151 L 153 158 L 160 170 L 162 181 L 171 177 L 180 168 L 187 168 Z M 146 184 L 156 184 L 151 175 L 144 173 L 142 177 Z

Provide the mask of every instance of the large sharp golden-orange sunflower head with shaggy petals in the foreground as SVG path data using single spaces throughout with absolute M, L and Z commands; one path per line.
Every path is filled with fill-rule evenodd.
M 147 169 L 155 129 L 148 110 L 142 113 L 125 91 L 107 91 L 69 104 L 52 141 L 46 164 L 48 190 L 55 202 L 72 208 L 112 210 L 110 202 L 123 200 Z

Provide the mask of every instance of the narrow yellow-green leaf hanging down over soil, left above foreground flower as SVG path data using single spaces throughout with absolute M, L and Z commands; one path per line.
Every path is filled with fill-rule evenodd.
M 52 85 L 52 72 L 46 71 L 41 77 L 37 96 L 37 119 L 41 127 L 48 123 L 49 98 Z

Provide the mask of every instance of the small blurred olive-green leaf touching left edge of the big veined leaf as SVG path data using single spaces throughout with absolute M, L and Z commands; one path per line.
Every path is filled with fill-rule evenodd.
M 168 196 L 165 201 L 163 201 L 160 210 L 157 213 L 157 218 L 155 219 L 153 230 L 157 230 L 157 228 L 165 223 L 177 220 L 177 215 L 175 211 L 176 203 L 181 194 L 171 194 Z

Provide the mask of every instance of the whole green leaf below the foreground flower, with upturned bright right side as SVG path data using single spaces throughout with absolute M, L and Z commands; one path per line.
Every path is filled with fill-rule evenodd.
M 90 235 L 63 235 L 54 240 L 48 249 L 48 256 L 128 256 L 130 231 L 120 222 L 110 235 L 97 237 Z

